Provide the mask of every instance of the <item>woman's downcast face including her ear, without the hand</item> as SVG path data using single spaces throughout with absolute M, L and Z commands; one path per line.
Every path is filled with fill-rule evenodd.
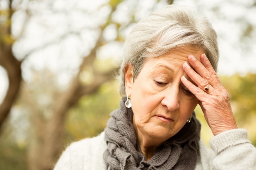
M 126 94 L 130 96 L 133 126 L 137 135 L 166 141 L 186 124 L 198 99 L 182 84 L 182 68 L 192 54 L 200 60 L 202 50 L 175 49 L 159 57 L 148 57 L 133 82 L 132 66 L 126 69 Z

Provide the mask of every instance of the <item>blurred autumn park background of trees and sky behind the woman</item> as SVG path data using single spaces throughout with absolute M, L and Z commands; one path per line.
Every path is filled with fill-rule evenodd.
M 0 0 L 0 170 L 50 170 L 71 141 L 102 132 L 119 108 L 126 36 L 171 3 L 212 22 L 218 75 L 256 146 L 256 0 Z

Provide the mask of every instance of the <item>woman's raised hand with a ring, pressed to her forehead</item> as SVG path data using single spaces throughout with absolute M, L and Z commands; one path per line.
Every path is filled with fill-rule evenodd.
M 202 54 L 200 56 L 201 62 L 195 59 L 193 55 L 189 55 L 188 60 L 194 70 L 187 63 L 183 64 L 183 69 L 198 86 L 184 76 L 182 76 L 181 81 L 198 98 L 199 105 L 213 135 L 236 129 L 229 94 L 222 86 L 206 55 Z

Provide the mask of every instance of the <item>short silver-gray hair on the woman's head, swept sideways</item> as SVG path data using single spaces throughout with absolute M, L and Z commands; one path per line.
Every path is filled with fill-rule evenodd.
M 124 44 L 124 58 L 119 71 L 120 94 L 126 96 L 124 69 L 133 66 L 133 81 L 146 57 L 164 55 L 172 49 L 195 46 L 202 49 L 217 72 L 219 53 L 217 35 L 211 23 L 190 7 L 166 5 L 140 20 Z

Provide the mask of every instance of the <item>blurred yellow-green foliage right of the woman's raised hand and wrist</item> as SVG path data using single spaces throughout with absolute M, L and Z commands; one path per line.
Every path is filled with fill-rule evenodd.
M 229 92 L 238 128 L 248 130 L 248 137 L 256 146 L 256 74 L 223 76 L 221 80 Z

